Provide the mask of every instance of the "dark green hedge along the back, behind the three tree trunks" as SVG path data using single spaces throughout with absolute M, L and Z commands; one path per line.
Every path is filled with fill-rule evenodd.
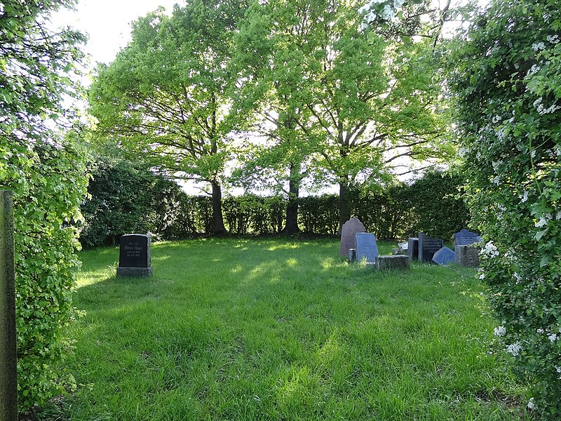
M 351 210 L 379 239 L 406 239 L 425 232 L 450 241 L 467 226 L 469 216 L 457 199 L 463 180 L 450 173 L 428 173 L 412 185 L 379 192 L 351 192 Z M 142 185 L 142 189 L 138 186 Z M 210 196 L 189 196 L 174 182 L 147 168 L 104 163 L 94 172 L 83 204 L 83 246 L 114 243 L 121 234 L 151 232 L 155 239 L 177 240 L 212 232 Z M 282 196 L 227 196 L 224 223 L 231 234 L 278 234 L 285 225 Z M 299 227 L 305 234 L 337 235 L 339 196 L 299 199 Z

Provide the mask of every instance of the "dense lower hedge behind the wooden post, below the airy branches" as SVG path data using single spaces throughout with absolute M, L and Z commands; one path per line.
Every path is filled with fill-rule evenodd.
M 74 142 L 6 143 L 0 138 L 0 186 L 15 192 L 15 290 L 18 405 L 41 406 L 61 382 L 60 361 L 71 344 L 62 328 L 73 318 L 70 290 L 79 260 L 76 222 L 87 179 Z

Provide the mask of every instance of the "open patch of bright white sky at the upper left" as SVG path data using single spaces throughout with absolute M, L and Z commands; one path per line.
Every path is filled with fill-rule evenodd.
M 130 41 L 130 22 L 163 6 L 168 12 L 181 0 L 79 0 L 76 11 L 54 13 L 55 27 L 70 26 L 88 35 L 86 53 L 91 67 L 95 62 L 109 63 Z

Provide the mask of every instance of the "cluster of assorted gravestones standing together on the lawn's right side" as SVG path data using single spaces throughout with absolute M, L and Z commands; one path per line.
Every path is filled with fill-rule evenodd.
M 353 217 L 342 227 L 339 254 L 348 257 L 349 262 L 365 260 L 367 265 L 377 269 L 408 269 L 414 260 L 441 266 L 456 263 L 461 267 L 478 267 L 481 241 L 478 234 L 462 229 L 454 234 L 454 250 L 451 250 L 444 245 L 443 239 L 419 232 L 419 236 L 399 243 L 392 255 L 380 255 L 376 236 L 367 233 L 363 223 Z

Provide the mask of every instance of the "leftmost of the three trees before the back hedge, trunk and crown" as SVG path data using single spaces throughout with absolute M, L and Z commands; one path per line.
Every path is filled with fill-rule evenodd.
M 208 182 L 214 232 L 222 218 L 231 77 L 227 72 L 237 4 L 197 0 L 168 17 L 162 10 L 133 24 L 133 40 L 90 88 L 97 131 L 151 159 L 171 177 Z

